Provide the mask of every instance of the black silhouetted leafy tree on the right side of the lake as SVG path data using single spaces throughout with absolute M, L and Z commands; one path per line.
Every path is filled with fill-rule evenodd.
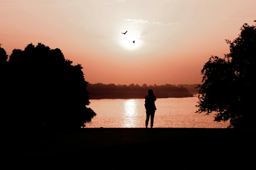
M 216 112 L 214 121 L 230 120 L 229 128 L 255 128 L 256 25 L 245 23 L 240 30 L 239 37 L 226 40 L 230 53 L 224 59 L 212 56 L 204 64 L 196 113 Z

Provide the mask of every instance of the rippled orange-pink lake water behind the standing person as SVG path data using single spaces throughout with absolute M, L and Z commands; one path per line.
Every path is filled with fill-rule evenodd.
M 90 102 L 89 107 L 97 115 L 86 124 L 87 128 L 145 127 L 145 99 L 100 99 Z M 195 113 L 196 102 L 197 97 L 157 99 L 153 128 L 227 128 L 229 121 L 215 122 L 213 113 Z

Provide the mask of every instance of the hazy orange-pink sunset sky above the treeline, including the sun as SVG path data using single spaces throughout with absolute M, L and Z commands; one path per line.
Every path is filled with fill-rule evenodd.
M 225 39 L 255 24 L 255 7 L 256 0 L 0 0 L 0 43 L 8 55 L 31 42 L 59 48 L 89 83 L 197 84 L 211 55 L 229 53 Z

